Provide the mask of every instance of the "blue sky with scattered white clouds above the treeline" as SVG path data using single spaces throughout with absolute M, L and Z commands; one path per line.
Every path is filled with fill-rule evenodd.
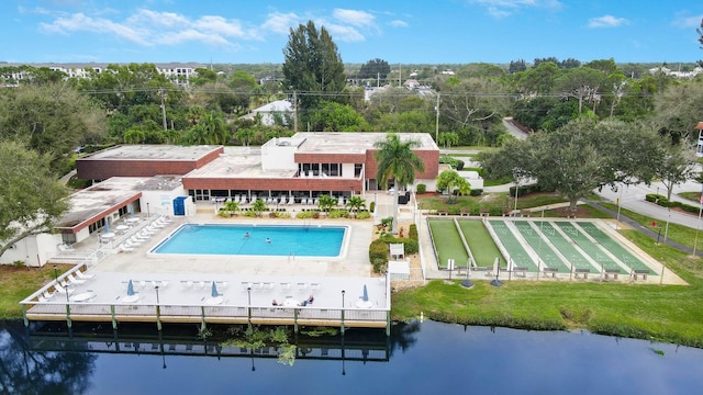
M 0 61 L 282 63 L 324 25 L 345 63 L 703 59 L 695 0 L 3 0 Z

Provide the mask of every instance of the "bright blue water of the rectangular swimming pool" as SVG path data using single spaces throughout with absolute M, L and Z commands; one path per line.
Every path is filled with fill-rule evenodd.
M 185 224 L 150 252 L 337 257 L 345 233 L 344 226 Z

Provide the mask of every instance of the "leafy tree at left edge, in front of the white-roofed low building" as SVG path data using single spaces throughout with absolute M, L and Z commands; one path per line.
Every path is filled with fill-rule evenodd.
M 52 172 L 51 160 L 20 143 L 0 143 L 0 256 L 30 235 L 52 232 L 68 210 L 69 191 Z

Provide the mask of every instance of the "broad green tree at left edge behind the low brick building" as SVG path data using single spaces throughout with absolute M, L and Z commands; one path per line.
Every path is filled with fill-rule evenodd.
M 104 131 L 104 112 L 63 84 L 20 86 L 0 91 L 0 140 L 15 139 L 51 155 L 51 168 L 68 171 L 74 149 Z

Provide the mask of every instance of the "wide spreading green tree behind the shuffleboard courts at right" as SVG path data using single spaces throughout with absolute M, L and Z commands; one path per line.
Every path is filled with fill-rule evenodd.
M 652 128 L 620 121 L 578 119 L 551 133 L 509 142 L 480 161 L 491 178 L 537 179 L 569 200 L 569 210 L 593 190 L 616 182 L 651 182 L 661 158 Z M 627 153 L 627 155 L 623 155 Z

